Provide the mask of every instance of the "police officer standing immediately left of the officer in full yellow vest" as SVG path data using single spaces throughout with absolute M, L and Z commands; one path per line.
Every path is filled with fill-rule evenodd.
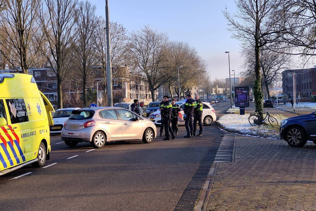
M 185 118 L 185 129 L 186 136 L 185 138 L 193 137 L 193 111 L 195 106 L 195 101 L 192 99 L 191 94 L 185 96 L 186 101 L 184 105 L 184 118 Z

